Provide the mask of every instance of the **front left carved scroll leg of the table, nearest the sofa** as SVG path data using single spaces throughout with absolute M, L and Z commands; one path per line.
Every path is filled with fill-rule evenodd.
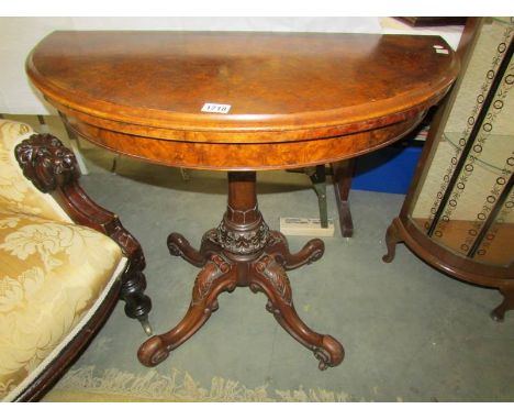
M 145 366 L 155 366 L 191 338 L 217 309 L 217 296 L 233 291 L 237 284 L 235 266 L 220 255 L 212 255 L 197 276 L 192 300 L 186 316 L 170 331 L 148 339 L 137 357 Z

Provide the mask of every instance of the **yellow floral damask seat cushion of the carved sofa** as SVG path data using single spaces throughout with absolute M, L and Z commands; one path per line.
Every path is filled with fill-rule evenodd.
M 67 338 L 122 261 L 97 231 L 0 208 L 0 399 Z

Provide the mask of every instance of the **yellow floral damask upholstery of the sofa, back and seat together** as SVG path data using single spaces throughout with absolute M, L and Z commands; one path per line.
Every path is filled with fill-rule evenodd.
M 23 177 L 13 148 L 31 134 L 0 120 L 0 400 L 49 363 L 126 264 L 114 241 L 74 224 Z

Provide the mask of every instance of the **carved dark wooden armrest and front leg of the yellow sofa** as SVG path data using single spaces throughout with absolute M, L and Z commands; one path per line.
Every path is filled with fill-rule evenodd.
M 145 257 L 137 240 L 123 228 L 116 214 L 92 201 L 80 187 L 77 159 L 74 153 L 52 134 L 33 134 L 14 150 L 23 175 L 42 192 L 51 194 L 69 218 L 111 237 L 127 257 L 122 275 L 121 299 L 125 313 L 136 318 L 150 335 L 148 312 L 150 299 L 144 295 L 146 279 L 143 274 Z

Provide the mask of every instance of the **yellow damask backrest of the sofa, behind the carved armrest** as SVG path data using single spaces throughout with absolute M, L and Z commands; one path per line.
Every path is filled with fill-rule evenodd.
M 70 222 L 49 195 L 41 192 L 23 176 L 16 162 L 14 147 L 32 134 L 26 124 L 0 120 L 0 209 Z

